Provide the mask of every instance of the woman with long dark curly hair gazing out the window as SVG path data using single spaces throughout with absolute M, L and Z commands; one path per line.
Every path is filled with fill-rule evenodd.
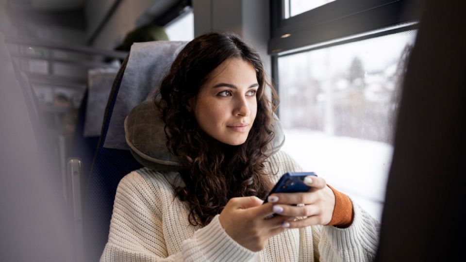
M 276 105 L 266 86 L 259 55 L 236 35 L 208 33 L 185 46 L 156 98 L 167 147 L 185 165 L 120 181 L 101 261 L 373 259 L 378 223 L 322 178 L 306 179 L 310 192 L 263 204 L 283 173 L 300 171 L 273 153 Z

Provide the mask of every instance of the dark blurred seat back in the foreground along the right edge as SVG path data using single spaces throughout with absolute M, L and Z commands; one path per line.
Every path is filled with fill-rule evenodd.
M 464 1 L 424 2 L 405 76 L 377 261 L 466 261 Z

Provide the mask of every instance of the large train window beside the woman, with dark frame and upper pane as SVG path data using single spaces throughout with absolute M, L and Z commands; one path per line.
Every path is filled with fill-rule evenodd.
M 380 221 L 417 3 L 302 1 L 296 9 L 293 2 L 272 1 L 268 46 L 282 150 Z

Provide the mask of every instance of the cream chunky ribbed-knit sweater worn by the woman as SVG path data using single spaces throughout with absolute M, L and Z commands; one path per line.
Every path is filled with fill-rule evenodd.
M 300 171 L 287 154 L 270 157 L 272 180 Z M 204 228 L 188 222 L 188 210 L 174 197 L 170 183 L 177 172 L 148 168 L 125 176 L 116 190 L 108 243 L 100 258 L 110 261 L 371 261 L 379 223 L 353 203 L 349 228 L 312 226 L 286 229 L 269 239 L 260 252 L 236 243 L 222 228 L 218 215 Z

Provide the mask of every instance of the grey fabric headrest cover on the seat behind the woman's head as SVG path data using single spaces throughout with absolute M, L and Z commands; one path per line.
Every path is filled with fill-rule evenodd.
M 116 95 L 103 147 L 128 150 L 124 121 L 130 111 L 158 89 L 185 41 L 134 43 Z M 150 99 L 150 98 L 149 98 Z

